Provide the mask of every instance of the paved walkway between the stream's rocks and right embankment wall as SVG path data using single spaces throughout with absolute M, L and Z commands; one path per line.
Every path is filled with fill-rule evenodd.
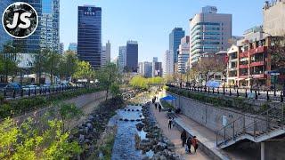
M 182 147 L 182 142 L 180 139 L 181 132 L 178 131 L 176 127 L 168 130 L 168 120 L 165 112 L 160 112 L 159 109 L 155 109 L 154 105 L 151 104 L 151 111 L 153 115 L 156 117 L 156 120 L 159 124 L 162 132 L 167 136 L 169 140 L 171 140 L 175 144 L 175 152 L 181 154 L 185 159 L 199 159 L 199 160 L 208 160 L 210 157 L 206 156 L 202 151 L 197 150 L 195 154 L 185 154 L 185 149 Z M 191 152 L 194 153 L 193 148 L 191 148 Z

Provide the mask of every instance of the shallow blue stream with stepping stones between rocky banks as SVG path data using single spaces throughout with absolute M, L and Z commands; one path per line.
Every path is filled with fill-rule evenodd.
M 135 124 L 141 123 L 142 118 L 144 118 L 142 106 L 126 106 L 126 108 L 118 109 L 117 115 L 110 118 L 108 125 L 117 125 L 118 127 L 112 150 L 112 160 L 138 160 L 143 156 L 151 157 L 153 155 L 153 153 L 142 155 L 142 151 L 135 148 L 135 134 L 138 134 L 141 140 L 146 139 L 146 132 L 137 131 L 135 126 Z

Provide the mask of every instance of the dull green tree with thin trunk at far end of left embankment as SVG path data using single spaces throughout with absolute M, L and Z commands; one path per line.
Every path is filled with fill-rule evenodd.
M 98 78 L 98 81 L 101 84 L 102 88 L 105 88 L 107 100 L 110 86 L 112 86 L 112 84 L 118 84 L 120 82 L 121 76 L 119 75 L 118 68 L 115 64 L 109 63 L 105 68 L 100 68 L 96 71 L 96 77 Z

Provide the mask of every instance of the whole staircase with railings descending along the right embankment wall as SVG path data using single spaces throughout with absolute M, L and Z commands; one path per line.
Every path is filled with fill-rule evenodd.
M 240 116 L 216 132 L 216 146 L 227 148 L 240 140 L 262 142 L 285 133 L 284 110 L 270 108 L 257 116 Z

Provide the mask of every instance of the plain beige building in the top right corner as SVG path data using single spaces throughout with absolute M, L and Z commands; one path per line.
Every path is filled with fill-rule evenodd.
M 264 6 L 264 31 L 267 36 L 285 35 L 285 0 L 277 0 Z

